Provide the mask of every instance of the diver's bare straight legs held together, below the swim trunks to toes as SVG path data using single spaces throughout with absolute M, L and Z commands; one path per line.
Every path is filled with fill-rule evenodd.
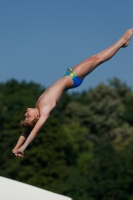
M 125 34 L 114 45 L 75 66 L 75 73 L 79 77 L 84 78 L 98 65 L 112 58 L 121 47 L 128 46 L 132 34 L 133 29 L 127 30 Z

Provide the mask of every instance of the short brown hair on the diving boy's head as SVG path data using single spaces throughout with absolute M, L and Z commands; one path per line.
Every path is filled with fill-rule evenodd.
M 21 121 L 20 122 L 20 126 L 23 127 L 24 129 L 28 130 L 28 131 L 32 131 L 34 126 L 36 125 L 38 119 L 33 119 L 32 121 Z

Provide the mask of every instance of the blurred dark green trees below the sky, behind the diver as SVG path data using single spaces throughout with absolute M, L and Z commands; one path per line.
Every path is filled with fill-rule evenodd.
M 44 90 L 33 82 L 0 84 L 0 175 L 73 200 L 132 200 L 131 88 L 114 78 L 108 85 L 66 93 L 19 159 L 12 154 L 22 132 L 19 123 Z

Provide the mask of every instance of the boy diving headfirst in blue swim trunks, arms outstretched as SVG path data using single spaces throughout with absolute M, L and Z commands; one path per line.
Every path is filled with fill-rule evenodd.
M 57 102 L 64 92 L 70 88 L 81 85 L 84 78 L 92 72 L 98 65 L 112 58 L 121 47 L 129 44 L 133 29 L 129 29 L 125 34 L 111 47 L 104 51 L 87 58 L 74 68 L 68 68 L 65 75 L 57 82 L 51 85 L 37 100 L 35 108 L 27 108 L 25 120 L 21 122 L 24 131 L 18 139 L 18 142 L 12 152 L 18 156 L 24 156 L 24 150 L 35 138 L 40 128 L 49 118 L 51 111 L 55 108 Z

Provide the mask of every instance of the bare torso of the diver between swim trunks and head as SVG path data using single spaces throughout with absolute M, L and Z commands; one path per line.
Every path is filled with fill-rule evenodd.
M 40 116 L 42 114 L 50 114 L 50 112 L 56 106 L 57 102 L 62 97 L 62 94 L 72 87 L 72 79 L 69 76 L 64 76 L 48 89 L 46 89 L 46 91 L 39 97 L 36 102 L 36 108 L 38 108 Z

